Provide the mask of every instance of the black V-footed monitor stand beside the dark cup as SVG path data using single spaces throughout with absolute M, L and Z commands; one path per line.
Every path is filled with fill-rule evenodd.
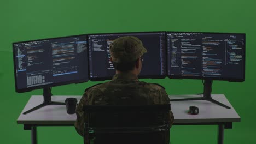
M 30 113 L 32 111 L 35 111 L 37 109 L 40 109 L 46 105 L 65 105 L 65 103 L 62 103 L 62 102 L 54 102 L 54 101 L 51 101 L 51 87 L 47 87 L 47 88 L 44 88 L 43 89 L 43 97 L 44 97 L 44 101 L 43 101 L 43 104 L 40 104 L 26 112 L 24 112 L 23 114 L 27 114 L 27 113 Z

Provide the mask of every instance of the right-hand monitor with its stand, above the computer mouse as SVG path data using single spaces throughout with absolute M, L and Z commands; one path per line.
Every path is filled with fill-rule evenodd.
M 168 77 L 173 79 L 202 79 L 203 98 L 212 99 L 212 80 L 245 81 L 245 34 L 167 32 Z M 174 101 L 174 100 L 172 100 Z

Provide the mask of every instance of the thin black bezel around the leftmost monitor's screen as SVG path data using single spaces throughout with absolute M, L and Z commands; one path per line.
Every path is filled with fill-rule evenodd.
M 56 38 L 45 38 L 45 39 L 36 39 L 36 40 L 26 40 L 26 41 L 18 41 L 18 42 L 14 42 L 13 43 L 13 62 L 14 62 L 14 79 L 15 79 L 15 91 L 17 93 L 24 93 L 24 92 L 30 92 L 33 91 L 35 89 L 42 89 L 42 88 L 47 88 L 47 87 L 55 87 L 55 86 L 62 86 L 62 85 L 68 85 L 68 84 L 72 84 L 72 83 L 83 83 L 83 82 L 87 82 L 89 81 L 89 62 L 88 62 L 88 58 L 87 58 L 87 63 L 88 63 L 88 76 L 87 79 L 80 79 L 80 80 L 71 80 L 71 81 L 65 81 L 65 82 L 58 82 L 58 83 L 51 83 L 48 85 L 41 85 L 41 86 L 34 86 L 34 87 L 28 87 L 28 88 L 22 88 L 22 89 L 18 89 L 17 87 L 17 77 L 16 77 L 16 59 L 15 59 L 15 44 L 19 44 L 19 43 L 27 43 L 27 42 L 33 42 L 33 41 L 39 41 L 39 40 L 52 40 L 52 39 L 61 39 L 61 38 L 70 38 L 70 37 L 80 37 L 80 36 L 85 36 L 87 44 L 86 46 L 88 46 L 88 35 L 87 34 L 79 34 L 79 35 L 71 35 L 71 36 L 65 36 L 65 37 L 56 37 Z M 88 54 L 88 47 L 87 47 L 87 54 Z M 87 55 L 88 56 L 88 55 Z

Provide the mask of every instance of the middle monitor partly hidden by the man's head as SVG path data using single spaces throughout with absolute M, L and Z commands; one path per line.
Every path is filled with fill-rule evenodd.
M 112 79 L 115 69 L 110 61 L 109 46 L 113 40 L 123 36 L 139 38 L 148 50 L 143 55 L 144 61 L 139 78 L 166 77 L 165 32 L 103 33 L 88 34 L 90 80 Z

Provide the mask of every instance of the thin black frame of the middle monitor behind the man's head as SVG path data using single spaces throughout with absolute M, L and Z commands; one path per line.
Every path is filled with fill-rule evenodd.
M 87 38 L 89 38 L 91 35 L 104 35 L 104 34 L 132 34 L 132 33 L 135 33 L 135 34 L 139 34 L 139 33 L 165 33 L 165 38 L 167 38 L 167 33 L 166 33 L 166 31 L 150 31 L 150 32 L 118 32 L 118 33 L 90 33 L 90 34 L 87 34 L 88 35 L 88 37 Z M 88 50 L 89 50 L 89 39 L 88 39 Z M 147 49 L 147 47 L 146 47 L 146 49 Z M 158 76 L 156 76 L 156 75 L 147 75 L 147 76 L 140 76 L 140 75 L 138 75 L 138 78 L 139 79 L 164 79 L 166 76 L 167 76 L 167 40 L 165 40 L 165 53 L 166 53 L 166 57 L 165 57 L 165 61 L 166 61 L 166 63 L 165 63 L 165 67 L 166 67 L 166 70 L 165 70 L 165 73 L 166 73 L 166 75 L 158 75 Z M 88 52 L 88 57 L 89 57 L 89 52 Z M 89 62 L 90 60 L 88 60 L 88 67 L 89 67 L 89 71 L 90 71 L 90 62 Z M 142 67 L 143 67 L 143 65 L 142 65 Z M 114 75 L 113 75 L 114 76 Z M 105 81 L 105 80 L 111 80 L 112 78 L 113 78 L 113 76 L 112 77 L 90 77 L 90 73 L 89 73 L 89 80 L 90 81 Z

